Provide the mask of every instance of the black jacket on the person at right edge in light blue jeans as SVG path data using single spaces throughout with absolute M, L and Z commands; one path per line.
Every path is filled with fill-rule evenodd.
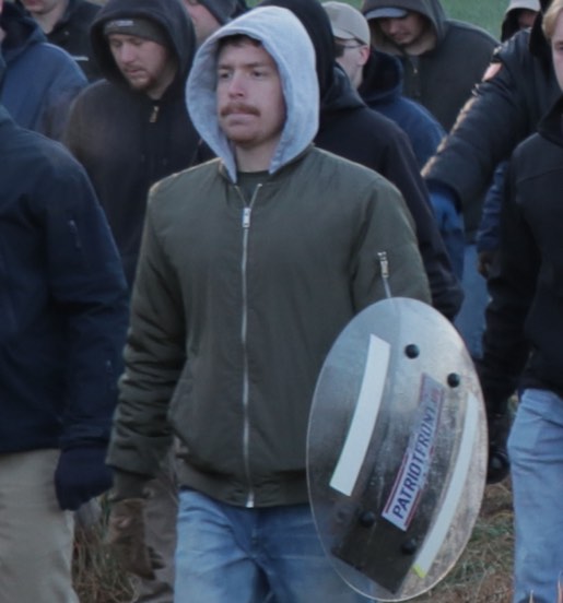
M 517 387 L 563 395 L 563 98 L 515 150 L 503 203 L 503 239 L 489 281 L 479 374 L 492 411 Z M 526 367 L 526 368 L 525 368 Z

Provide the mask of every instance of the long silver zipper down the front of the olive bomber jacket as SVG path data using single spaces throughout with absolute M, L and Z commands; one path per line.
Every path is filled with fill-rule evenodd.
M 253 480 L 250 476 L 250 418 L 249 412 L 249 370 L 248 370 L 248 348 L 247 348 L 247 335 L 248 335 L 248 283 L 247 283 L 247 263 L 248 263 L 248 236 L 250 232 L 250 218 L 253 208 L 258 196 L 258 191 L 261 185 L 258 185 L 253 193 L 250 203 L 246 202 L 246 199 L 238 187 L 235 187 L 241 199 L 244 202 L 242 226 L 243 226 L 243 258 L 241 262 L 241 273 L 243 276 L 243 316 L 241 326 L 241 341 L 243 344 L 243 412 L 244 412 L 244 425 L 243 425 L 243 461 L 245 468 L 246 480 L 248 482 L 248 496 L 245 506 L 251 508 L 255 506 L 255 492 L 253 487 Z

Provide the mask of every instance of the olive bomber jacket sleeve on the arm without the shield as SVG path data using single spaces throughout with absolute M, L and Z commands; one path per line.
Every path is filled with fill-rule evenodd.
M 131 299 L 108 463 L 120 473 L 152 476 L 172 444 L 168 403 L 185 364 L 179 284 L 164 255 L 148 205 Z

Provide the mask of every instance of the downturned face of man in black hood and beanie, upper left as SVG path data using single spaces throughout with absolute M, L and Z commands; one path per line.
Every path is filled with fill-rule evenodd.
M 137 91 L 160 98 L 176 73 L 168 49 L 139 36 L 110 34 L 109 49 L 119 71 Z

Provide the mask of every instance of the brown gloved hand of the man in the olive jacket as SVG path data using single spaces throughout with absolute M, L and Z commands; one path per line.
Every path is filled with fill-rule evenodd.
M 144 505 L 144 498 L 124 498 L 112 504 L 107 544 L 126 571 L 153 580 L 154 570 L 164 567 L 164 563 L 146 546 Z

